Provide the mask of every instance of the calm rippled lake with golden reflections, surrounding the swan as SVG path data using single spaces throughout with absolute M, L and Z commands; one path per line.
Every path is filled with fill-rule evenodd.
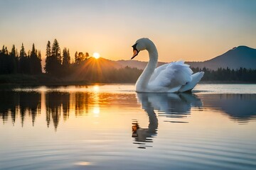
M 256 84 L 0 86 L 0 169 L 256 169 Z

